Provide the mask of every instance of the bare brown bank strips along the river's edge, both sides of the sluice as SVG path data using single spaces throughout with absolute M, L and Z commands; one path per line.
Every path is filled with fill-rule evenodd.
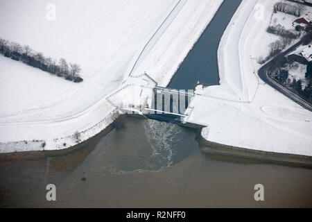
M 130 119 L 146 119 L 144 115 L 127 114 Z M 201 135 L 201 128 L 198 126 L 189 126 L 188 124 L 178 124 L 182 127 L 193 128 L 196 133 L 196 141 L 200 145 L 200 150 L 208 155 L 213 160 L 224 162 L 235 162 L 243 164 L 277 164 L 287 167 L 300 167 L 312 169 L 312 157 L 304 155 L 291 155 L 284 153 L 274 153 L 267 151 L 257 151 L 248 148 L 241 148 L 235 146 L 228 146 L 218 144 L 216 142 L 209 142 Z M 15 153 L 0 153 L 0 163 L 4 162 L 24 162 L 28 160 L 43 160 L 46 157 L 64 157 L 77 153 L 75 155 L 86 156 L 86 152 L 90 153 L 96 144 L 114 130 L 114 123 L 111 123 L 101 133 L 91 137 L 76 146 L 64 148 L 54 151 L 24 151 Z M 130 129 L 129 129 L 130 130 Z M 82 153 L 82 154 L 81 154 Z M 79 157 L 76 157 L 76 159 Z

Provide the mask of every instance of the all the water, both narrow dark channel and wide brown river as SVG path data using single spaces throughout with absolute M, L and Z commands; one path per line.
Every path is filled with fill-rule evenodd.
M 170 87 L 218 83 L 218 41 L 240 2 L 223 3 Z M 197 135 L 129 117 L 125 128 L 70 155 L 0 162 L 0 207 L 312 207 L 311 170 L 216 159 L 202 153 Z M 49 183 L 56 201 L 46 200 Z M 254 200 L 258 183 L 265 187 L 263 202 Z

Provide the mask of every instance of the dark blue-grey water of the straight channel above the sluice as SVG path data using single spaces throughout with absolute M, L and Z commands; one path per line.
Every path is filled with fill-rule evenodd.
M 218 85 L 217 50 L 220 39 L 241 0 L 224 1 L 198 42 L 196 42 L 168 87 L 193 89 L 197 81 Z

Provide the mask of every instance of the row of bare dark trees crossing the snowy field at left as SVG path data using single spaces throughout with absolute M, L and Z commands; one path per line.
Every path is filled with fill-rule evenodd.
M 79 76 L 81 68 L 76 63 L 67 63 L 64 58 L 56 60 L 53 58 L 45 58 L 43 53 L 36 52 L 30 46 L 17 42 L 8 42 L 0 38 L 0 53 L 3 56 L 12 58 L 12 60 L 24 62 L 27 65 L 47 71 L 66 80 L 80 83 L 83 78 Z

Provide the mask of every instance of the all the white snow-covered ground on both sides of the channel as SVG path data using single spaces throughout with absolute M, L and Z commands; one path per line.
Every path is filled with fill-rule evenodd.
M 179 2 L 184 6 L 173 12 L 128 78 L 141 50 Z M 198 87 L 201 96 L 194 97 L 188 120 L 205 124 L 202 136 L 211 142 L 311 156 L 311 112 L 257 76 L 257 58 L 276 40 L 266 33 L 275 2 L 243 0 L 218 49 L 220 85 Z M 76 131 L 84 141 L 103 130 L 117 107 L 145 103 L 141 94 L 150 94 L 138 87 L 141 74 L 166 85 L 222 0 L 59 0 L 55 21 L 45 19 L 48 1 L 0 3 L 0 21 L 6 21 L 0 23 L 1 37 L 29 44 L 46 57 L 77 62 L 85 80 L 70 83 L 0 58 L 0 152 L 5 153 L 67 148 L 77 144 Z

